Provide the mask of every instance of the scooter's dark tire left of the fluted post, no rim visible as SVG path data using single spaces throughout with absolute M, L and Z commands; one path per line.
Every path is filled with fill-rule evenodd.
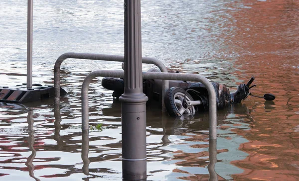
M 125 83 L 121 78 L 104 77 L 102 79 L 102 86 L 108 90 L 124 93 Z

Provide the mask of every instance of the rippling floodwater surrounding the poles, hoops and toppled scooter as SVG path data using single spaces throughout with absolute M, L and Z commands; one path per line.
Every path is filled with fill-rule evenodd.
M 0 86 L 26 82 L 26 8 L 26 0 L 0 1 Z M 121 0 L 34 0 L 33 83 L 53 84 L 65 52 L 123 55 L 123 19 Z M 142 28 L 143 56 L 231 91 L 255 76 L 254 94 L 276 95 L 218 111 L 219 180 L 299 180 L 297 0 L 142 0 Z M 89 134 L 89 173 L 81 159 L 81 85 L 98 69 L 121 64 L 62 64 L 60 114 L 52 100 L 0 103 L 0 180 L 121 180 L 121 106 L 101 78 L 89 93 L 90 125 L 104 127 Z M 208 147 L 207 114 L 175 119 L 148 107 L 148 180 L 208 180 Z

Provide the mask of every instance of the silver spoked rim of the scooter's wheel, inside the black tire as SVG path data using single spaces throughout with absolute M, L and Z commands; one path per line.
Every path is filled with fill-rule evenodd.
M 176 92 L 173 95 L 173 99 L 174 99 L 174 103 L 175 103 L 175 107 L 176 107 L 177 111 L 181 115 L 194 114 L 195 108 L 193 105 L 187 106 L 186 108 L 183 107 L 184 96 L 185 96 L 185 94 L 182 92 Z M 188 95 L 186 95 L 185 100 L 190 101 L 191 99 L 190 99 L 190 97 L 188 97 Z

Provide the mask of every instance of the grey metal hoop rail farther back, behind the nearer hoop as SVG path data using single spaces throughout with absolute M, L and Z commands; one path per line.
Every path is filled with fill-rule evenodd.
M 60 104 L 60 66 L 65 59 L 74 58 L 74 59 L 86 59 L 86 60 L 103 60 L 103 61 L 115 61 L 115 62 L 124 62 L 125 57 L 120 55 L 105 55 L 105 54 L 93 54 L 93 53 L 74 53 L 68 52 L 60 55 L 55 62 L 54 66 L 54 104 Z M 154 64 L 156 65 L 161 72 L 167 72 L 164 64 L 154 58 L 143 57 L 142 63 Z M 164 105 L 164 96 L 166 91 L 169 89 L 169 81 L 163 80 L 162 84 L 162 111 L 165 111 Z

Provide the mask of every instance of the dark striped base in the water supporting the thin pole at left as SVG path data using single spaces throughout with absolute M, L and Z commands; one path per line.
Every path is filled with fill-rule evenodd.
M 66 91 L 60 88 L 60 95 L 65 95 Z M 27 89 L 26 84 L 16 85 L 16 87 L 0 88 L 0 102 L 25 103 L 33 102 L 54 96 L 54 86 L 33 84 L 32 89 Z

